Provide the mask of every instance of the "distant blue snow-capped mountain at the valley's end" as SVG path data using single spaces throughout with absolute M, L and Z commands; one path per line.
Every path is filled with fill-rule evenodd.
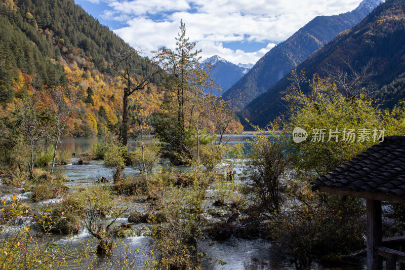
M 211 77 L 215 83 L 222 87 L 222 92 L 212 93 L 215 95 L 222 95 L 223 92 L 228 90 L 234 83 L 239 81 L 253 67 L 253 64 L 237 64 L 229 62 L 224 58 L 214 55 L 205 59 L 203 64 L 215 65 L 211 69 Z

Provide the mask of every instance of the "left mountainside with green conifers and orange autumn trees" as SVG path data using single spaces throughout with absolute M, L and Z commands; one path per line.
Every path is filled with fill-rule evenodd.
M 70 136 L 92 136 L 121 117 L 123 84 L 106 69 L 120 50 L 131 47 L 73 0 L 1 0 L 0 102 L 18 103 L 24 93 L 62 86 L 80 100 Z M 131 65 L 141 80 L 155 66 L 136 55 Z M 152 110 L 159 76 L 147 91 Z

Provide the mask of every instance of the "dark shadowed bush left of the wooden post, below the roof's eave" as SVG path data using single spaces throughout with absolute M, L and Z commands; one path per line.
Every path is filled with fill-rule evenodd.
M 278 246 L 309 265 L 313 254 L 344 254 L 360 249 L 366 232 L 363 203 L 358 198 L 328 195 L 320 207 L 306 205 L 280 213 L 269 230 Z

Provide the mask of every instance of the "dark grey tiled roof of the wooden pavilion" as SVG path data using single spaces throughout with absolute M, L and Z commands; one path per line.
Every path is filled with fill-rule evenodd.
M 312 190 L 329 187 L 405 198 L 405 136 L 385 137 L 312 184 Z

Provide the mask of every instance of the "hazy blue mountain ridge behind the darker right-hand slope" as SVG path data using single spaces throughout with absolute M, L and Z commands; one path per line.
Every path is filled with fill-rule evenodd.
M 335 16 L 315 17 L 288 40 L 266 53 L 222 97 L 225 100 L 232 100 L 234 98 L 240 99 L 240 96 L 243 96 L 243 105 L 247 105 L 277 83 L 315 50 L 327 44 L 340 32 L 359 23 L 382 2 L 381 0 L 365 0 L 351 12 Z

